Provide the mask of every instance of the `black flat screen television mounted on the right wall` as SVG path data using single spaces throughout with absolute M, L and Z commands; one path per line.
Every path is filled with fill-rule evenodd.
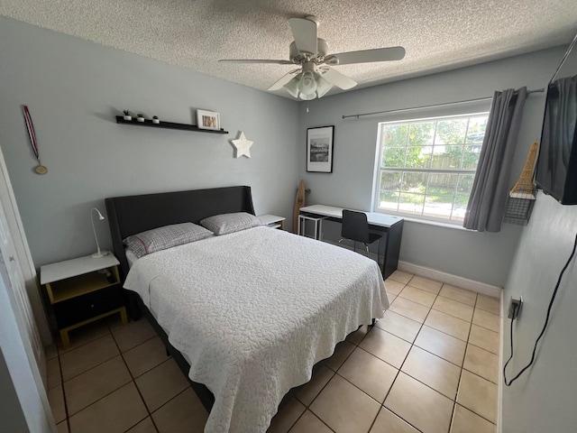
M 577 75 L 549 84 L 536 184 L 563 205 L 577 205 Z

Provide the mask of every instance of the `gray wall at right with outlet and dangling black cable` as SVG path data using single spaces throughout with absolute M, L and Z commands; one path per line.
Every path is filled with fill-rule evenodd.
M 539 193 L 531 221 L 518 244 L 503 292 L 522 296 L 523 309 L 514 324 L 515 358 L 508 380 L 531 359 L 536 337 L 545 323 L 549 299 L 572 251 L 577 234 L 577 207 L 561 206 Z M 503 385 L 503 431 L 570 433 L 577 426 L 577 265 L 573 259 L 563 276 L 536 363 L 510 387 Z M 509 321 L 504 318 L 503 357 L 510 355 Z

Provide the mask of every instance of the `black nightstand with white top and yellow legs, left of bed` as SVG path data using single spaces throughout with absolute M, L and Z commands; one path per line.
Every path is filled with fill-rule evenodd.
M 69 331 L 116 313 L 127 323 L 124 291 L 113 254 L 79 257 L 41 266 L 41 284 L 46 288 L 56 317 L 62 346 L 70 345 Z

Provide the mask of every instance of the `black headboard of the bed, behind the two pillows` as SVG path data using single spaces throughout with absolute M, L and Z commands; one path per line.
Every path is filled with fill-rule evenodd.
M 106 198 L 106 212 L 114 255 L 122 278 L 128 273 L 123 239 L 170 224 L 196 223 L 206 217 L 232 212 L 254 215 L 251 187 L 226 187 Z

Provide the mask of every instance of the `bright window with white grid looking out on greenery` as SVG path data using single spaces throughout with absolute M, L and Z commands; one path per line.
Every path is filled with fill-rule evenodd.
M 375 211 L 463 221 L 488 117 L 380 123 Z

